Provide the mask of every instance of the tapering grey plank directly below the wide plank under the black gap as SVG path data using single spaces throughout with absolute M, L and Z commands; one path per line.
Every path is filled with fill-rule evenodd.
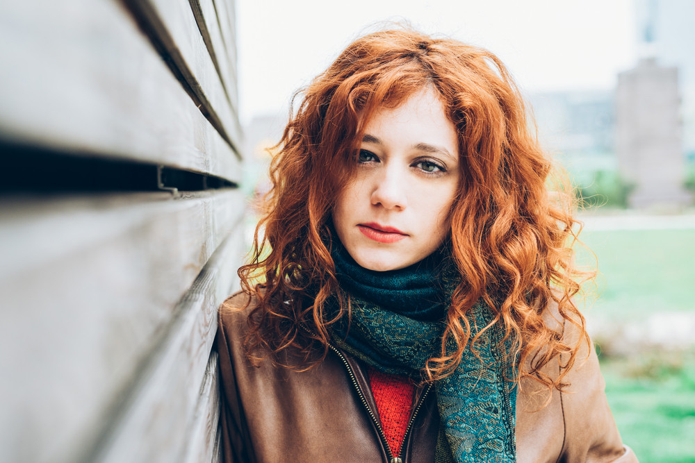
M 217 309 L 231 292 L 229 282 L 234 280 L 238 267 L 238 261 L 231 257 L 238 254 L 242 243 L 234 235 L 213 255 L 204 274 L 196 280 L 195 289 L 179 305 L 179 316 L 152 355 L 141 381 L 132 388 L 122 412 L 115 416 L 113 429 L 88 461 L 170 463 L 190 455 L 187 443 L 198 439 L 191 430 L 196 428 L 201 384 L 207 390 L 214 387 L 213 378 L 206 385 L 204 375 L 206 369 L 215 369 L 209 357 L 217 329 Z M 218 405 L 211 395 L 204 405 L 211 415 L 202 419 L 206 423 L 204 455 L 208 439 L 214 439 L 217 429 L 211 421 L 218 419 Z M 195 447 L 192 456 L 198 454 Z

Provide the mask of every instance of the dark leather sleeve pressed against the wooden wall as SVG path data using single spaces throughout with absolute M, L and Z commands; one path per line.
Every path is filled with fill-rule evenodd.
M 246 426 L 243 405 L 239 399 L 234 374 L 234 353 L 229 339 L 234 336 L 240 317 L 234 305 L 240 296 L 222 303 L 218 314 L 215 345 L 220 354 L 220 432 L 222 432 L 222 462 L 251 463 L 256 461 Z M 236 299 L 236 301 L 234 299 Z M 236 312 L 236 313 L 235 313 Z M 236 315 L 236 316 L 235 316 Z

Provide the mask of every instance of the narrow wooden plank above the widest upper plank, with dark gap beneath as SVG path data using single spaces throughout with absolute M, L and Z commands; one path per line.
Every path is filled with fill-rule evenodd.
M 238 147 L 237 108 L 224 92 L 188 0 L 123 0 L 142 28 L 162 47 L 179 80 L 223 138 Z

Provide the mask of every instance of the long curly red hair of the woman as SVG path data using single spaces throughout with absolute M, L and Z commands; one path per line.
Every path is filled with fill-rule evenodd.
M 338 283 L 322 237 L 338 192 L 350 181 L 370 116 L 377 108 L 398 107 L 425 87 L 439 96 L 457 131 L 461 169 L 450 210 L 450 244 L 461 280 L 442 351 L 427 363 L 425 378 L 450 374 L 468 343 L 475 344 L 466 314 L 484 301 L 495 315 L 486 329 L 502 323 L 505 339 L 512 340 L 510 355 L 519 365 L 514 379 L 562 389 L 582 343 L 589 345 L 573 302 L 592 274 L 573 264 L 579 223 L 572 215 L 572 192 L 566 182 L 550 191 L 557 169 L 541 150 L 502 62 L 485 49 L 408 28 L 355 40 L 295 94 L 293 101 L 301 97 L 301 103 L 291 110 L 276 146 L 272 190 L 254 235 L 252 260 L 238 272 L 243 290 L 257 300 L 245 346 L 249 352 L 264 348 L 266 354 L 250 355 L 256 361 L 270 356 L 298 370 L 325 357 L 330 325 L 350 314 L 349 303 L 341 303 L 337 317 L 329 319 L 325 311 Z M 563 337 L 567 323 L 578 330 L 578 339 Z M 451 340 L 455 351 L 445 348 Z M 300 353 L 293 361 L 279 355 L 289 347 Z M 542 373 L 562 354 L 559 376 Z

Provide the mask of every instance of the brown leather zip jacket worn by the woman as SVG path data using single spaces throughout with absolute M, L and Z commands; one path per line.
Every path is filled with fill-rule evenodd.
M 402 454 L 391 455 L 366 370 L 354 358 L 332 348 L 302 373 L 270 362 L 250 365 L 241 345 L 248 310 L 238 310 L 247 301 L 236 294 L 220 309 L 225 463 L 434 461 L 439 415 L 429 387 L 416 393 Z M 547 392 L 534 394 L 532 385 L 519 392 L 518 462 L 637 462 L 621 442 L 593 349 L 567 379 L 569 392 L 553 391 L 545 407 Z

